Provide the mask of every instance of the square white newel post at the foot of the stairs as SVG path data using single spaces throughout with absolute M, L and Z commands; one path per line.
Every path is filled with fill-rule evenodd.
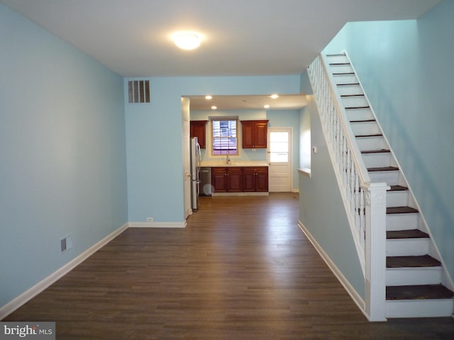
M 386 321 L 386 183 L 366 183 L 365 312 Z

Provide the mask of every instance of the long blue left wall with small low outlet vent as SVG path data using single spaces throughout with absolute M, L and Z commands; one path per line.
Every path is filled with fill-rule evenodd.
M 0 41 L 1 307 L 121 227 L 128 205 L 122 77 L 3 4 Z

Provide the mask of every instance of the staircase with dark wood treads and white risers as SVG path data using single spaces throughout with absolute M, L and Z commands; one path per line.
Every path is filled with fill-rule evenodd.
M 447 317 L 454 293 L 404 174 L 345 54 L 326 55 L 371 182 L 386 195 L 386 317 Z M 451 289 L 448 289 L 450 287 Z

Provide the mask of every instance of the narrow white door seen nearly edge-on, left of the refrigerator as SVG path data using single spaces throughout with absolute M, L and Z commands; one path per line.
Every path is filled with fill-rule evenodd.
M 184 184 L 184 219 L 192 213 L 191 209 L 191 160 L 190 152 L 190 125 L 189 125 L 189 98 L 182 98 L 182 147 L 183 147 L 183 184 Z

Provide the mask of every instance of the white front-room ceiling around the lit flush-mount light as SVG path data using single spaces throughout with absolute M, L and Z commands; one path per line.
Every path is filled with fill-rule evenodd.
M 300 74 L 348 21 L 440 0 L 0 0 L 124 77 Z M 177 30 L 204 35 L 178 50 Z

